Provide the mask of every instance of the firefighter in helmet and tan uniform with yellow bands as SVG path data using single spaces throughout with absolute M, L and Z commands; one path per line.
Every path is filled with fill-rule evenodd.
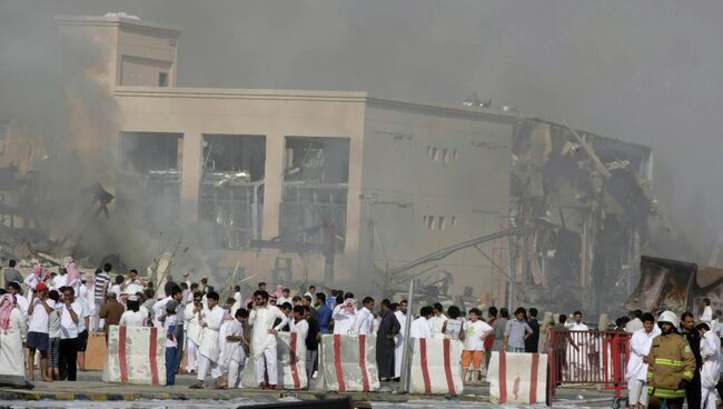
M 685 390 L 695 373 L 695 357 L 685 338 L 676 331 L 677 316 L 664 311 L 657 318 L 662 333 L 653 339 L 647 363 L 648 408 L 683 408 Z

